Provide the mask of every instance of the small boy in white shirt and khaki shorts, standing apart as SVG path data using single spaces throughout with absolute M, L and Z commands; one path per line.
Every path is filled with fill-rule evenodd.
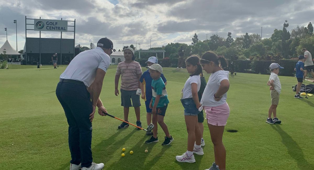
M 275 123 L 281 123 L 281 120 L 277 118 L 276 109 L 279 103 L 279 94 L 281 92 L 281 84 L 279 81 L 278 73 L 279 69 L 283 69 L 284 67 L 279 66 L 277 63 L 272 63 L 269 66 L 269 69 L 271 71 L 269 80 L 267 82 L 267 85 L 270 86 L 270 96 L 272 98 L 272 105 L 269 107 L 268 110 L 268 118 L 266 120 L 269 124 L 275 124 Z M 272 114 L 274 118 L 272 119 Z

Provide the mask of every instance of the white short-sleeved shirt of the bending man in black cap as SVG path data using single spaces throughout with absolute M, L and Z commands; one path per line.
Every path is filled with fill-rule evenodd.
M 75 56 L 60 78 L 78 80 L 89 87 L 95 80 L 97 68 L 107 72 L 109 65 L 110 57 L 100 47 L 96 47 Z

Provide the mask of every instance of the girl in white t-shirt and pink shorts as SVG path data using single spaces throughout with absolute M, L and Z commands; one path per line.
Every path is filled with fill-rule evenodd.
M 203 54 L 200 61 L 203 70 L 211 74 L 204 90 L 201 104 L 204 106 L 210 137 L 214 144 L 215 162 L 213 168 L 226 169 L 226 150 L 222 142 L 225 125 L 230 114 L 226 102 L 229 90 L 229 71 L 222 68 L 228 66 L 228 61 L 223 56 L 217 56 L 208 51 Z

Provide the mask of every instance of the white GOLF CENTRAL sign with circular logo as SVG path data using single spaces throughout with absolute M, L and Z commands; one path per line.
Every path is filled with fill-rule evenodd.
M 68 31 L 68 21 L 51 19 L 34 19 L 35 31 Z

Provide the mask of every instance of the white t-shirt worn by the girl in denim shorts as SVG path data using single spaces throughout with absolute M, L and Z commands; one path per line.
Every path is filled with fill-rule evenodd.
M 199 89 L 201 88 L 201 76 L 200 75 L 190 76 L 187 79 L 181 92 L 181 99 L 193 97 L 191 86 L 192 83 L 197 84 L 197 91 L 199 91 Z

